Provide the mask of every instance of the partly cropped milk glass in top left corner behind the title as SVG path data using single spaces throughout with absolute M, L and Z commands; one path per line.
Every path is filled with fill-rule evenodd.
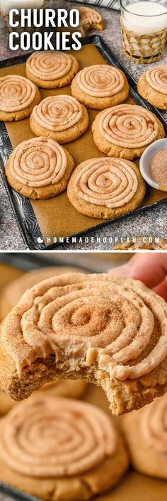
M 11 28 L 8 23 L 8 13 L 11 9 L 44 9 L 45 8 L 45 0 L 0 0 L 0 12 L 1 16 L 3 16 L 8 31 L 25 31 L 25 28 L 21 30 L 21 28 Z M 18 16 L 17 16 L 18 21 Z M 30 28 L 27 28 L 26 31 L 30 31 Z M 35 31 L 35 28 L 32 29 Z

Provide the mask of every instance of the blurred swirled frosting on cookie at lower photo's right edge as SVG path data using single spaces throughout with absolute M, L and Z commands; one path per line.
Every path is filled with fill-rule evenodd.
M 146 444 L 161 454 L 167 454 L 166 395 L 142 409 L 140 426 Z

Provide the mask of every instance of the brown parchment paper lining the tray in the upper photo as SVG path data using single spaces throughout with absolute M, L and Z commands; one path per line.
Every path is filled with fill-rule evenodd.
M 93 44 L 84 45 L 81 50 L 71 50 L 69 53 L 73 54 L 79 61 L 80 69 L 95 64 L 107 64 L 102 55 L 98 52 Z M 0 77 L 5 75 L 23 75 L 25 76 L 25 65 L 18 65 L 0 70 Z M 62 89 L 40 89 L 42 99 L 55 94 L 71 94 L 70 85 L 62 87 Z M 133 104 L 131 98 L 128 98 L 128 103 Z M 101 153 L 96 145 L 93 143 L 93 136 L 91 133 L 91 124 L 99 111 L 88 109 L 89 127 L 86 133 L 81 138 L 71 143 L 65 144 L 65 148 L 71 153 L 74 158 L 75 166 L 89 158 L 97 158 L 105 156 Z M 15 123 L 6 122 L 6 128 L 11 140 L 13 148 L 15 148 L 21 141 L 32 138 L 35 135 L 30 129 L 30 120 L 25 119 Z M 139 165 L 139 161 L 137 161 Z M 166 192 L 161 192 L 153 189 L 147 185 L 146 195 L 140 207 L 153 204 L 158 200 L 165 199 Z M 47 200 L 35 200 L 31 202 L 35 216 L 38 220 L 42 236 L 47 244 L 47 237 L 68 237 L 87 230 L 96 226 L 97 224 L 104 223 L 104 219 L 96 219 L 80 214 L 69 202 L 67 192 L 59 194 L 57 197 Z M 49 245 L 49 244 L 48 244 Z

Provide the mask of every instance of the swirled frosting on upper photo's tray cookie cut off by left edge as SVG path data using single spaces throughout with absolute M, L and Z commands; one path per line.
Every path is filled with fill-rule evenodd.
M 8 75 L 0 78 L 0 111 L 20 111 L 35 99 L 36 88 L 28 78 Z

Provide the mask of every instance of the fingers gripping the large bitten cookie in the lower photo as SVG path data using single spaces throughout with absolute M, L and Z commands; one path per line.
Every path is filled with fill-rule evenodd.
M 114 272 L 141 280 L 167 301 L 166 253 L 136 253 L 126 265 L 118 266 Z

